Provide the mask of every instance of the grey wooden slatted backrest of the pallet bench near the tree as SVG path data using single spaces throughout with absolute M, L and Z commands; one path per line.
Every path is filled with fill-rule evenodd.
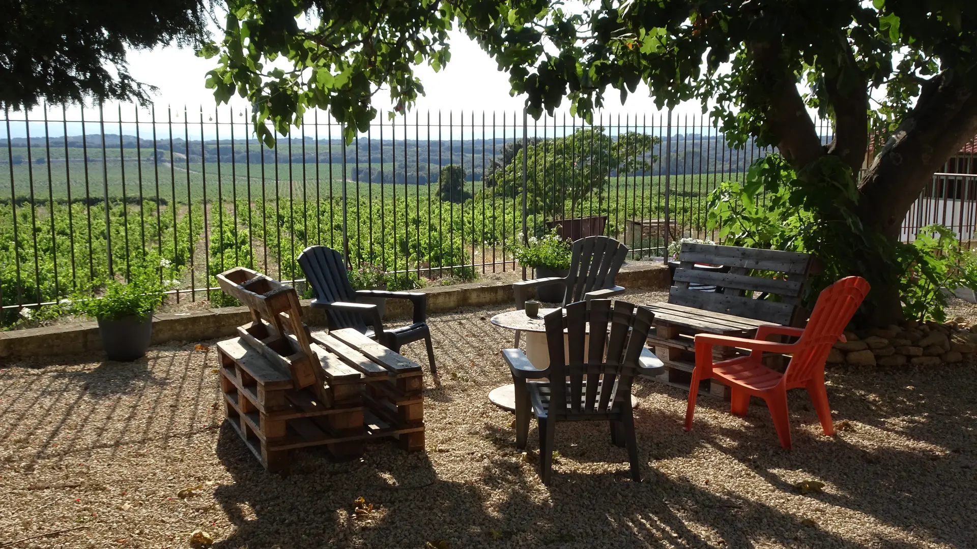
M 801 300 L 816 265 L 809 254 L 685 242 L 678 261 L 668 303 L 785 325 L 805 320 Z M 729 273 L 694 269 L 697 263 L 726 266 Z M 717 289 L 690 289 L 690 283 Z M 769 294 L 780 301 L 762 299 Z

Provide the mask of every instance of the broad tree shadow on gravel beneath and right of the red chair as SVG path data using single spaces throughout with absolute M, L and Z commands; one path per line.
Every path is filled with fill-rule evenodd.
M 826 437 L 821 433 L 817 416 L 810 409 L 810 402 L 806 401 L 803 391 L 792 392 L 789 398 L 793 439 L 793 449 L 790 451 L 780 447 L 769 412 L 762 405 L 750 406 L 747 416 L 743 418 L 749 425 L 743 429 L 697 421 L 692 433 L 696 443 L 712 446 L 729 455 L 786 493 L 799 494 L 794 486 L 799 481 L 821 481 L 831 486 L 826 491 L 809 493 L 805 497 L 870 515 L 882 523 L 916 532 L 936 543 L 954 547 L 971 546 L 974 535 L 977 535 L 977 530 L 967 518 L 977 513 L 977 502 L 969 495 L 977 490 L 977 472 L 970 457 L 977 450 L 972 414 L 964 408 L 952 419 L 930 416 L 912 423 L 909 429 L 892 429 L 886 424 L 887 418 L 891 420 L 922 413 L 916 407 L 918 404 L 913 405 L 909 399 L 895 399 L 890 393 L 879 391 L 879 385 L 902 387 L 911 383 L 908 378 L 899 379 L 899 376 L 900 373 L 895 372 L 890 379 L 874 387 L 852 379 L 843 380 L 843 386 L 831 387 L 828 399 L 835 419 L 848 419 L 852 423 L 849 429 L 852 430 L 869 429 L 868 426 L 871 426 L 896 431 L 913 440 L 945 447 L 951 444 L 951 451 L 902 449 L 891 445 L 866 449 L 845 441 L 845 432 Z M 847 387 L 870 387 L 871 390 Z M 930 391 L 914 390 L 916 395 L 923 395 L 923 399 L 936 399 Z M 965 406 L 967 399 L 963 398 L 964 391 L 960 393 L 960 401 Z M 876 397 L 869 400 L 877 402 L 876 405 L 866 405 L 866 396 L 869 395 Z M 880 401 L 880 396 L 888 396 L 888 400 Z M 943 398 L 954 397 L 944 395 Z M 729 413 L 728 402 L 703 399 L 700 405 Z M 932 410 L 933 407 L 927 404 L 926 409 Z M 957 423 L 940 433 L 934 428 L 934 421 Z M 801 424 L 809 425 L 810 429 L 799 429 Z M 789 479 L 782 476 L 784 472 L 788 472 Z M 943 506 L 937 503 L 939 501 L 956 503 L 954 506 Z M 958 507 L 961 502 L 964 508 Z M 878 547 L 907 546 L 894 540 L 879 540 L 879 543 Z

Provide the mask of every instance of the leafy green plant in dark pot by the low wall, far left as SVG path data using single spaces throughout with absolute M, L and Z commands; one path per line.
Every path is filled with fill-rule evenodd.
M 139 359 L 152 339 L 152 312 L 176 285 L 175 271 L 166 259 L 131 262 L 128 277 L 117 274 L 94 282 L 73 296 L 70 310 L 99 321 L 109 360 Z

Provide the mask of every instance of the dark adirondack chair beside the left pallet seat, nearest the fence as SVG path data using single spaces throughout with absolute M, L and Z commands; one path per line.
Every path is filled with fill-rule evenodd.
M 419 292 L 354 290 L 346 273 L 343 255 L 326 246 L 309 246 L 303 250 L 299 254 L 299 266 L 316 290 L 317 297 L 312 301 L 312 306 L 325 310 L 330 330 L 356 328 L 394 353 L 400 353 L 404 344 L 423 339 L 431 373 L 437 375 L 431 329 L 425 321 L 427 295 Z M 360 303 L 361 297 L 405 299 L 413 304 L 413 322 L 397 328 L 384 328 L 376 305 Z

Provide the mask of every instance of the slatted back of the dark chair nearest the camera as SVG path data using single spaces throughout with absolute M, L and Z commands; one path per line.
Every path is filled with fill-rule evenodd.
M 631 382 L 654 317 L 647 308 L 609 299 L 592 300 L 589 308 L 587 302 L 578 301 L 544 317 L 550 356 L 550 417 L 601 419 L 618 413 L 621 406 L 630 406 Z M 590 339 L 585 352 L 588 322 Z M 564 330 L 569 354 L 564 349 Z

